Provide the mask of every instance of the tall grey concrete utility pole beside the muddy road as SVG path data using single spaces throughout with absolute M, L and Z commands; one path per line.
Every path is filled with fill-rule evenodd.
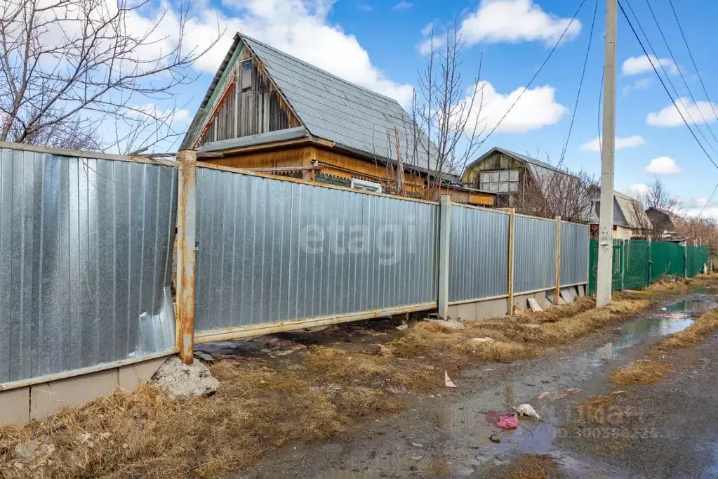
M 606 0 L 606 50 L 603 67 L 603 141 L 601 208 L 598 219 L 596 306 L 611 302 L 613 266 L 613 166 L 616 134 L 616 31 L 618 0 Z

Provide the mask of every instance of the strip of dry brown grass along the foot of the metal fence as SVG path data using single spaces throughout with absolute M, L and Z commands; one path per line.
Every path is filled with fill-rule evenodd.
M 514 361 L 547 345 L 634 315 L 645 299 L 617 298 L 592 309 L 591 299 L 498 320 L 467 322 L 464 330 L 416 322 L 377 354 L 313 347 L 273 369 L 261 359 L 223 360 L 212 366 L 220 389 L 182 404 L 151 386 L 117 392 L 44 422 L 0 427 L 0 470 L 8 477 L 217 477 L 248 468 L 292 442 L 327 440 L 367 417 L 404 408 L 401 391 L 443 388 L 484 361 Z M 472 338 L 493 342 L 472 343 Z M 46 437 L 57 447 L 37 470 L 3 470 L 18 442 Z M 521 476 L 531 478 L 544 476 Z M 551 477 L 551 476 L 545 476 Z

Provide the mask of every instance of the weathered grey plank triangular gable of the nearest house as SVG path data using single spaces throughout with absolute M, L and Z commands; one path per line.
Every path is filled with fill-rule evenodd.
M 243 62 L 252 62 L 251 88 L 241 90 Z M 261 63 L 244 48 L 238 61 L 232 65 L 228 86 L 215 115 L 210 120 L 198 146 L 230 138 L 241 138 L 258 133 L 278 131 L 301 126 L 299 119 L 271 84 Z

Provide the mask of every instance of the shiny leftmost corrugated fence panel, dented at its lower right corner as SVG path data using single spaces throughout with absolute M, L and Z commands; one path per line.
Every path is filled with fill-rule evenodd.
M 174 348 L 172 167 L 0 149 L 0 383 Z

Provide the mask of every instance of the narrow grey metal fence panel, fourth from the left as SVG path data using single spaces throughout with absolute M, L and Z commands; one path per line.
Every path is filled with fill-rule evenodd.
M 513 292 L 556 286 L 556 221 L 516 215 Z

